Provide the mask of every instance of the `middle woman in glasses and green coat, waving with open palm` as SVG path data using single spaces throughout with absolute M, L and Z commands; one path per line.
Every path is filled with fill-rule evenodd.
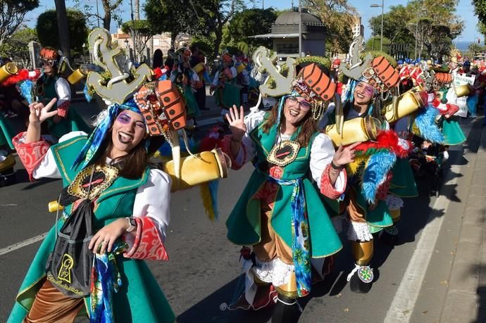
M 311 71 L 316 74 L 309 77 Z M 313 84 L 315 80 L 321 82 Z M 316 92 L 316 87 L 328 91 Z M 249 160 L 255 166 L 226 222 L 230 241 L 253 246 L 252 255 L 242 253 L 245 293 L 230 309 L 258 310 L 276 291 L 272 322 L 296 322 L 297 298 L 311 290 L 311 262 L 322 276 L 329 270 L 323 268 L 325 259 L 342 248 L 319 196 L 335 199 L 342 194 L 344 165 L 354 158 L 353 146 L 335 153 L 330 139 L 316 130 L 316 120 L 334 92 L 328 75 L 311 64 L 282 91 L 270 113 L 258 111 L 244 120 L 243 108 L 233 106 L 227 115 L 232 134 L 223 139 L 223 151 L 231 154 L 235 169 Z

